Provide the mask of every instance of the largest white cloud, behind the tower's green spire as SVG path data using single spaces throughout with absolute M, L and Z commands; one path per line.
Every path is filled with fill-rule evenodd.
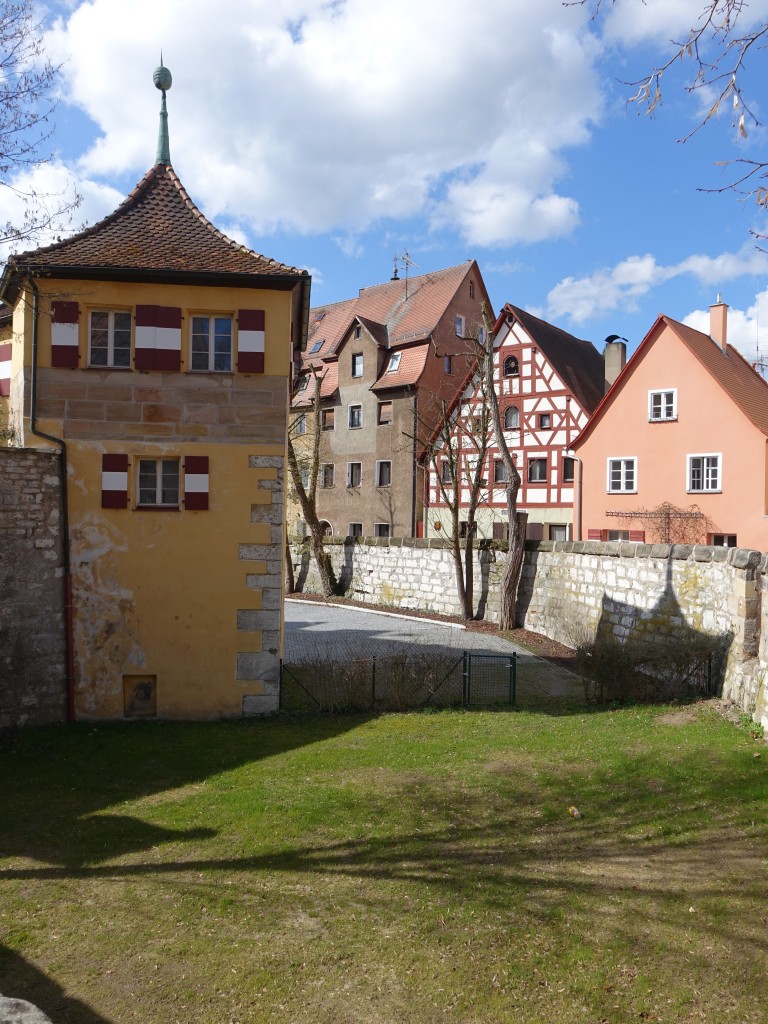
M 99 131 L 86 178 L 151 165 L 165 46 L 171 156 L 212 219 L 351 236 L 429 213 L 496 246 L 579 222 L 562 155 L 601 114 L 587 24 L 559 0 L 219 0 L 213 17 L 203 0 L 132 0 L 130 17 L 89 0 L 48 45 Z

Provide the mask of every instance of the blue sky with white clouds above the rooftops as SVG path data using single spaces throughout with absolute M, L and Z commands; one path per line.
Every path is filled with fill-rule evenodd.
M 160 93 L 171 159 L 217 227 L 312 274 L 312 305 L 404 274 L 479 264 L 511 302 L 602 351 L 659 313 L 768 364 L 768 216 L 723 189 L 766 157 L 687 60 L 651 117 L 636 83 L 706 0 L 49 0 L 61 63 L 51 160 L 20 187 L 82 197 L 71 230 L 112 212 L 155 162 Z M 738 28 L 768 18 L 752 0 Z M 768 75 L 739 81 L 760 118 Z M 763 70 L 763 74 L 760 71 Z M 740 111 L 735 112 L 736 115 Z M 681 141 L 681 139 L 686 139 Z M 0 219 L 13 216 L 0 189 Z M 58 228 L 63 237 L 66 230 Z M 768 249 L 768 242 L 764 243 Z M 25 247 L 27 248 L 27 247 Z

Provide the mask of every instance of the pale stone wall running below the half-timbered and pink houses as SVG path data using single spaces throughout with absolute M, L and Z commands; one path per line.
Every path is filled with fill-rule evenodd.
M 442 541 L 367 540 L 329 545 L 348 597 L 460 614 Z M 477 552 L 475 608 L 499 621 L 504 552 Z M 297 590 L 318 591 L 313 562 L 294 547 Z M 768 556 L 739 548 L 598 542 L 526 545 L 518 616 L 529 630 L 575 646 L 598 631 L 621 640 L 683 632 L 729 636 L 727 699 L 768 726 Z

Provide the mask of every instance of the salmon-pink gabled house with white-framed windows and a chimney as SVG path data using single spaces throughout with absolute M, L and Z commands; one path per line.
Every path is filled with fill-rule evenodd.
M 768 550 L 768 384 L 727 343 L 660 315 L 572 447 L 579 540 Z

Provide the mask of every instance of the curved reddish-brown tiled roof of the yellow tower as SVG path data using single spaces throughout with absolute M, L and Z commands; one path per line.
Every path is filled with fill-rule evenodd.
M 239 245 L 187 196 L 170 164 L 156 164 L 121 205 L 98 223 L 53 245 L 19 253 L 9 269 L 84 268 L 268 276 L 306 275 Z M 7 271 L 6 271 L 7 276 Z

